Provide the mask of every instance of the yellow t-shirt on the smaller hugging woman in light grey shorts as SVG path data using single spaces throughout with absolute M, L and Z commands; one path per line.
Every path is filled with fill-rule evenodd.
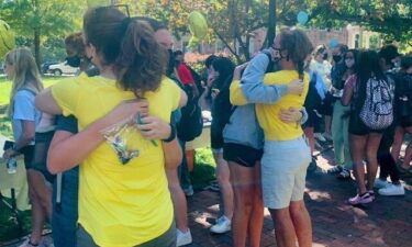
M 265 85 L 285 83 L 299 79 L 296 70 L 280 70 L 265 76 Z M 282 81 L 282 82 L 280 82 Z M 297 123 L 285 123 L 280 120 L 280 110 L 289 108 L 301 109 L 309 89 L 309 75 L 304 74 L 304 90 L 301 96 L 286 94 L 276 104 L 256 104 L 256 115 L 261 128 L 265 132 L 265 139 L 268 141 L 290 141 L 303 135 L 302 127 Z

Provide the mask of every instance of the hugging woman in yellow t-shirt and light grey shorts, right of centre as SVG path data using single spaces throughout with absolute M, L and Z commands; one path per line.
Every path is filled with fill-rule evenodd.
M 283 96 L 275 104 L 256 104 L 256 115 L 265 134 L 261 159 L 263 199 L 275 223 L 277 245 L 281 247 L 312 245 L 312 227 L 303 202 L 305 175 L 311 161 L 310 148 L 297 123 L 281 121 L 285 110 L 301 109 L 309 87 L 304 63 L 313 47 L 308 36 L 297 29 L 285 29 L 275 38 L 271 57 L 281 70 L 265 76 L 265 85 L 303 80 L 300 96 Z M 254 99 L 254 87 L 243 87 L 247 99 Z M 248 90 L 249 89 L 249 90 Z

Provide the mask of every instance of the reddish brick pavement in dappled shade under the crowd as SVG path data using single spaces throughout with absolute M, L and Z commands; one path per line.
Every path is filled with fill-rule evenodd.
M 331 153 L 324 154 L 330 158 Z M 327 169 L 320 157 L 319 166 Z M 345 201 L 355 194 L 354 181 L 337 180 L 316 172 L 308 176 L 304 200 L 313 224 L 314 246 L 412 246 L 412 193 L 405 197 L 379 197 L 368 207 L 353 207 Z M 188 247 L 230 247 L 230 234 L 212 235 L 209 227 L 219 214 L 219 193 L 202 191 L 188 200 L 193 244 Z M 275 245 L 275 232 L 266 212 L 261 247 Z

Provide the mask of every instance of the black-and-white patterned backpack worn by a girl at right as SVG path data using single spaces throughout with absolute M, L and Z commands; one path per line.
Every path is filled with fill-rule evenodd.
M 371 130 L 385 130 L 393 122 L 393 87 L 372 77 L 366 85 L 366 99 L 360 110 L 361 122 Z

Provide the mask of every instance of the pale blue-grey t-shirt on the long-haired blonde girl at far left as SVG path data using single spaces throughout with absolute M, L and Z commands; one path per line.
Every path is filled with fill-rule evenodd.
M 27 89 L 19 90 L 14 96 L 14 108 L 12 117 L 12 127 L 14 141 L 18 141 L 23 134 L 23 122 L 33 121 L 37 126 L 42 113 L 34 106 L 34 92 Z M 34 145 L 32 142 L 30 145 Z

